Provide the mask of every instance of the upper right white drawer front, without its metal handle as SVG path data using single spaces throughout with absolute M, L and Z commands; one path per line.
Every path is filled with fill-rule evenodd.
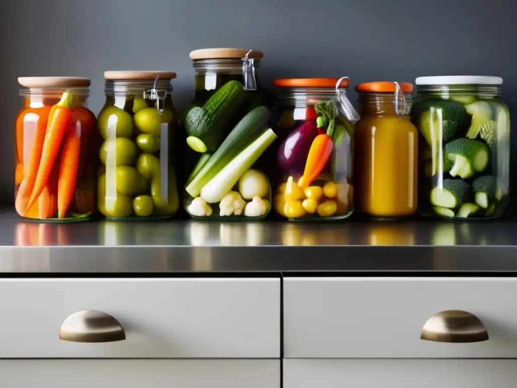
M 286 358 L 517 357 L 517 279 L 286 278 Z M 479 318 L 489 340 L 425 341 L 444 310 Z

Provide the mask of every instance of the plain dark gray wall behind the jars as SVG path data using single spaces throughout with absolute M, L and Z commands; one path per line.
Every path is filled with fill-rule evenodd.
M 98 113 L 104 70 L 174 70 L 181 108 L 193 94 L 191 50 L 255 48 L 265 53 L 264 85 L 285 76 L 346 75 L 352 85 L 501 76 L 517 120 L 516 11 L 514 0 L 2 0 L 0 201 L 13 202 L 19 76 L 88 77 Z

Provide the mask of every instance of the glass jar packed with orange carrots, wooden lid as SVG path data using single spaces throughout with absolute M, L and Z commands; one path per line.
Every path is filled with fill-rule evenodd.
M 90 80 L 20 77 L 14 198 L 19 215 L 39 221 L 81 221 L 96 210 L 99 142 L 87 108 Z

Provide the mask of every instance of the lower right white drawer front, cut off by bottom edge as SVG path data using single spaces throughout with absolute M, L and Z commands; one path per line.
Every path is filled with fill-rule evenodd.
M 517 360 L 285 360 L 283 388 L 514 388 Z

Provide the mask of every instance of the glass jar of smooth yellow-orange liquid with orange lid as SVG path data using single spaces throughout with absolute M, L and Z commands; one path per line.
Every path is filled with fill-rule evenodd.
M 413 85 L 367 82 L 356 86 L 361 119 L 355 127 L 357 211 L 373 218 L 417 210 L 418 131 L 409 110 Z M 406 94 L 407 93 L 407 94 Z

